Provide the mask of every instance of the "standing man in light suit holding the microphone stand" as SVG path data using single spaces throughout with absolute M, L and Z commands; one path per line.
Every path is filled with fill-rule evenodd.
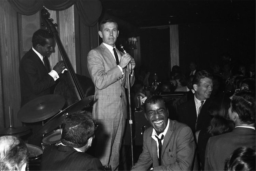
M 129 54 L 119 52 L 115 46 L 119 31 L 112 19 L 100 23 L 99 35 L 103 43 L 91 50 L 87 66 L 95 85 L 93 118 L 99 125 L 96 131 L 95 155 L 103 166 L 118 169 L 119 150 L 127 119 L 127 97 L 129 64 L 130 83 L 134 83 L 135 61 Z

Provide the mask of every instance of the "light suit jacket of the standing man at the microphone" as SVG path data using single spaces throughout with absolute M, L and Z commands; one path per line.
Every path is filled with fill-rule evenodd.
M 122 55 L 121 52 L 120 54 Z M 113 120 L 121 112 L 127 118 L 125 88 L 128 88 L 128 78 L 126 68 L 122 75 L 113 55 L 103 44 L 88 53 L 87 66 L 95 85 L 93 118 Z M 131 76 L 130 82 L 133 85 L 134 75 Z

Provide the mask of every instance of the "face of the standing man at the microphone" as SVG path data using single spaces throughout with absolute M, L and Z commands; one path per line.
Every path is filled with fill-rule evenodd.
M 115 46 L 116 39 L 118 37 L 119 31 L 117 30 L 117 25 L 114 22 L 106 22 L 103 25 L 102 31 L 99 31 L 99 35 L 105 44 L 112 47 Z

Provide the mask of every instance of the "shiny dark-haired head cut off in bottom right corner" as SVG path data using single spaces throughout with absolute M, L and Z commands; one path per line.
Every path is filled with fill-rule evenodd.
M 224 170 L 255 170 L 255 149 L 240 147 L 226 159 Z

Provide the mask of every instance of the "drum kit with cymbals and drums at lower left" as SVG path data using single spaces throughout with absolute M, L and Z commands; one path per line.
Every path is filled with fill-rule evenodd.
M 85 97 L 82 100 L 63 109 L 65 99 L 60 95 L 45 95 L 33 99 L 26 103 L 18 111 L 18 119 L 25 123 L 46 121 L 45 124 L 34 134 L 34 138 L 42 138 L 42 148 L 33 144 L 26 144 L 29 151 L 29 160 L 37 160 L 41 157 L 43 150 L 50 146 L 58 146 L 61 138 L 62 129 L 57 129 L 65 121 L 66 117 L 73 112 L 82 110 L 94 99 L 94 95 Z M 9 107 L 10 127 L 0 130 L 0 135 L 25 136 L 31 132 L 29 126 L 13 127 L 11 124 L 11 114 Z

